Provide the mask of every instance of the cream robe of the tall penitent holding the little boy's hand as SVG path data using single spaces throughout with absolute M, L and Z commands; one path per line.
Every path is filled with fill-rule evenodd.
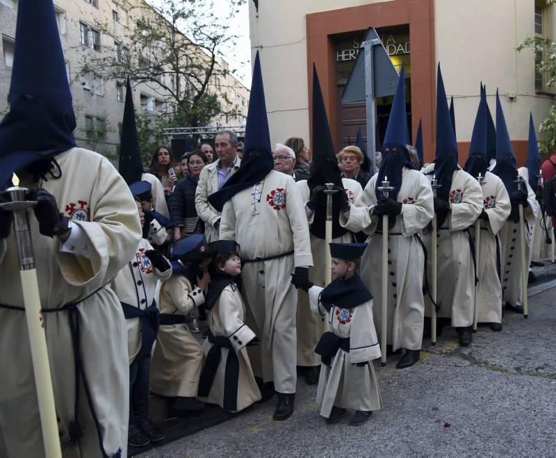
M 236 240 L 245 260 L 243 297 L 250 307 L 247 325 L 261 345 L 250 347 L 257 376 L 275 383 L 279 393 L 295 393 L 297 291 L 291 284 L 295 267 L 313 265 L 309 227 L 295 181 L 288 175 L 270 173 L 254 187 L 234 195 L 222 211 L 222 240 Z

